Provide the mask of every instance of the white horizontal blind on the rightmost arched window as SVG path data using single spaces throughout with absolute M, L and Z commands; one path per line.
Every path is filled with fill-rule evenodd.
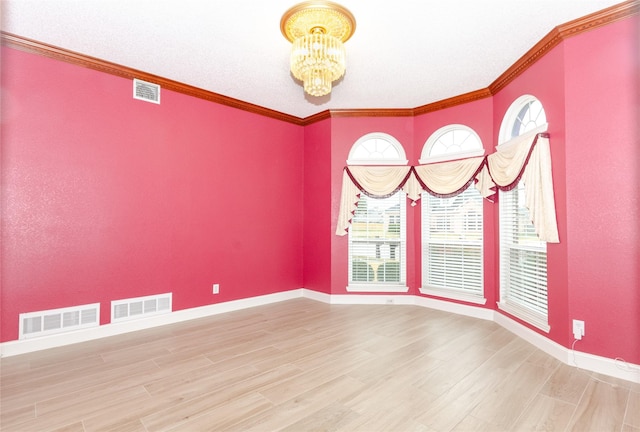
M 500 192 L 499 202 L 501 302 L 508 312 L 522 312 L 532 324 L 548 329 L 547 244 L 530 221 L 522 183 Z

